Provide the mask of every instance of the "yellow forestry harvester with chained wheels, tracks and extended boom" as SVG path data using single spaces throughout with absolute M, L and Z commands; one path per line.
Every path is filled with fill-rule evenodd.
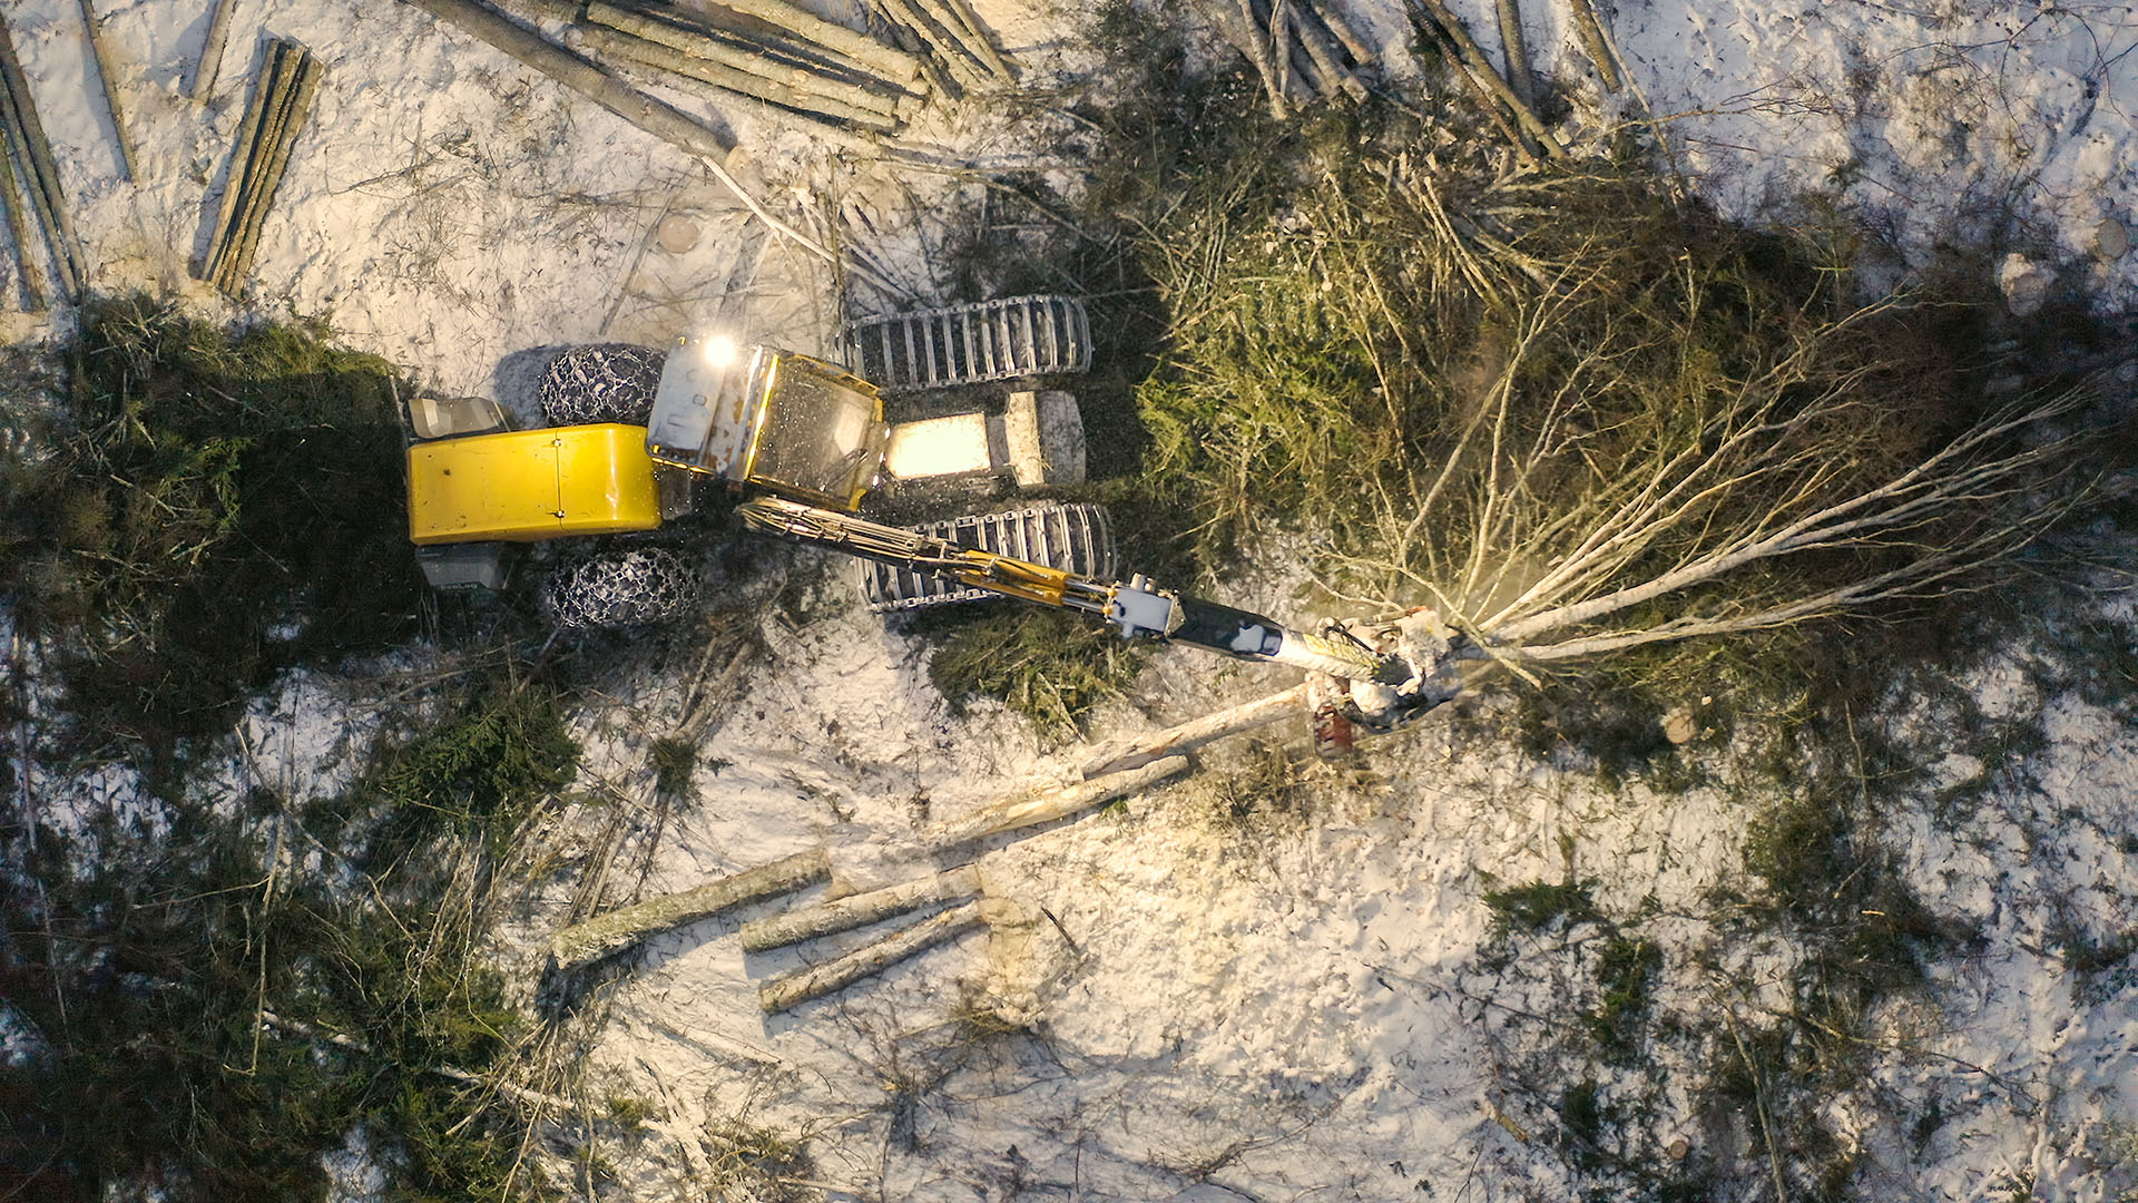
M 883 319 L 898 323 L 889 330 L 849 328 L 849 360 L 926 385 L 1037 375 L 1026 368 L 1045 355 L 1033 345 L 1050 330 L 1037 321 L 1024 328 L 1022 360 L 1013 321 L 996 336 L 958 342 L 958 323 L 971 332 L 971 310 L 983 308 Z M 941 347 L 928 345 L 934 336 Z M 857 516 L 887 477 L 996 471 L 1026 486 L 1082 479 L 1082 422 L 1067 394 L 1011 394 L 1003 415 L 894 426 L 883 420 L 877 385 L 838 364 L 706 334 L 678 338 L 667 351 L 567 351 L 547 368 L 541 402 L 549 426 L 539 430 L 513 430 L 487 400 L 410 402 L 408 522 L 434 587 L 498 589 L 511 544 L 601 537 L 545 580 L 549 619 L 629 627 L 680 616 L 699 597 L 697 572 L 659 533 L 688 509 L 693 479 L 714 479 L 742 499 L 738 516 L 750 529 L 866 561 L 864 593 L 877 610 L 1020 597 L 1082 610 L 1129 638 L 1403 694 L 1403 709 L 1439 700 L 1426 685 L 1430 666 L 1343 627 L 1306 634 L 1157 589 L 1140 574 L 1118 580 L 1105 514 L 1095 505 L 1031 505 L 928 527 Z

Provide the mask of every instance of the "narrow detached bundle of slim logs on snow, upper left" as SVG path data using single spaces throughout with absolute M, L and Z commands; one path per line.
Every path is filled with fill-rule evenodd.
M 274 205 L 282 171 L 289 169 L 289 152 L 304 133 L 323 73 L 325 66 L 312 51 L 295 41 L 276 39 L 267 45 L 252 101 L 237 126 L 237 146 L 231 148 L 231 167 L 222 180 L 222 203 L 216 208 L 216 227 L 207 257 L 195 272 L 197 280 L 207 280 L 231 295 L 244 289 L 252 274 L 252 255 L 259 250 L 261 225 Z

